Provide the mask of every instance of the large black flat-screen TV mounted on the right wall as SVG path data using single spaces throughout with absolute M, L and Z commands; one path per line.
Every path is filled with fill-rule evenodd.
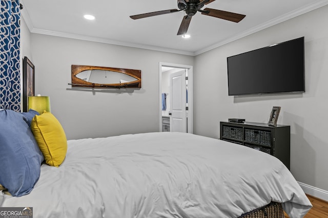
M 227 58 L 229 95 L 304 92 L 304 37 Z

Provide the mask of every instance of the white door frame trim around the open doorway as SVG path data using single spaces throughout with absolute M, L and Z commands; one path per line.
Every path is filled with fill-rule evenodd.
M 162 132 L 162 67 L 174 67 L 174 68 L 181 68 L 187 69 L 188 74 L 188 122 L 187 122 L 187 129 L 188 133 L 193 133 L 193 66 L 190 65 L 183 65 L 183 64 L 174 64 L 174 63 L 165 63 L 159 62 L 158 65 L 158 72 L 159 72 L 159 79 L 158 79 L 158 111 L 159 111 L 159 132 Z

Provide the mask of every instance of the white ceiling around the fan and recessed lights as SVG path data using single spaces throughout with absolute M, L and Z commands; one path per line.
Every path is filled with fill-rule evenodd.
M 32 33 L 198 55 L 325 6 L 328 0 L 216 0 L 206 7 L 246 17 L 235 23 L 197 12 L 188 29 L 189 39 L 176 35 L 185 12 L 137 20 L 129 17 L 178 9 L 176 0 L 20 0 L 20 3 Z M 86 20 L 84 14 L 92 14 L 96 19 Z

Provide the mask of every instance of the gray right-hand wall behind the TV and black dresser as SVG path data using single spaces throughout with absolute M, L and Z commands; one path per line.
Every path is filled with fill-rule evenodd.
M 278 124 L 291 126 L 291 172 L 296 180 L 328 190 L 328 6 L 198 55 L 194 74 L 194 133 L 219 137 L 219 122 L 245 118 L 267 123 L 281 106 Z M 303 94 L 228 96 L 227 57 L 305 37 Z

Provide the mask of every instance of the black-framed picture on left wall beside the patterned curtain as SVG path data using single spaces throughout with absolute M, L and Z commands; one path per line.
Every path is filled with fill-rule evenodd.
M 23 112 L 28 111 L 28 96 L 34 96 L 34 64 L 24 57 L 23 59 Z

